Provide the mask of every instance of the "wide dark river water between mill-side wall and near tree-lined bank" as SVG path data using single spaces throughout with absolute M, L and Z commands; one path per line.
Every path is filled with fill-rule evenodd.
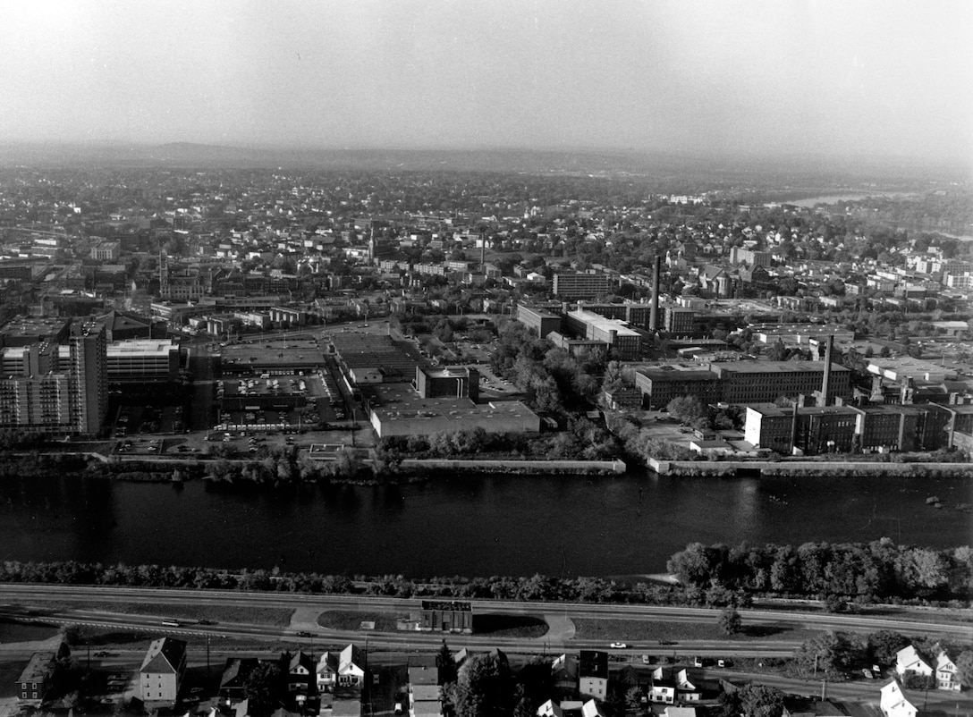
M 942 510 L 926 505 L 936 495 Z M 348 575 L 619 576 L 687 543 L 973 543 L 973 481 L 472 477 L 259 489 L 53 476 L 0 484 L 0 560 Z

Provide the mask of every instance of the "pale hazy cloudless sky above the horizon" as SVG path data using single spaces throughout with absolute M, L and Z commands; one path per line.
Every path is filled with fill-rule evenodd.
M 970 0 L 0 0 L 0 141 L 973 160 Z

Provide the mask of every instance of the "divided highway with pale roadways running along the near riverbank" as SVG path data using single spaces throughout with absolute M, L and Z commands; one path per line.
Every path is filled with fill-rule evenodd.
M 103 603 L 103 611 L 91 610 L 47 610 L 51 602 L 63 605 L 72 601 L 83 603 Z M 20 614 L 23 609 L 34 609 L 44 612 L 46 620 L 57 623 L 79 623 L 88 625 L 104 625 L 105 627 L 162 630 L 162 617 L 145 617 L 137 615 L 117 614 L 111 612 L 113 603 L 146 603 L 153 605 L 173 605 L 181 609 L 187 606 L 215 606 L 215 607 L 264 607 L 282 610 L 300 610 L 305 614 L 310 611 L 324 612 L 367 611 L 385 612 L 404 615 L 415 612 L 419 607 L 419 600 L 395 597 L 372 597 L 356 595 L 311 595 L 302 593 L 281 592 L 225 592 L 225 591 L 192 591 L 192 590 L 160 590 L 145 588 L 102 588 L 78 587 L 61 585 L 0 585 L 0 613 Z M 473 610 L 477 614 L 500 615 L 535 615 L 566 622 L 564 619 L 603 619 L 629 620 L 674 623 L 715 623 L 719 611 L 705 608 L 666 607 L 655 605 L 614 605 L 614 604 L 584 604 L 562 602 L 507 602 L 491 600 L 474 600 Z M 934 637 L 945 637 L 953 640 L 973 641 L 973 626 L 954 620 L 922 622 L 908 619 L 889 617 L 871 617 L 868 615 L 830 615 L 824 613 L 773 611 L 773 610 L 740 610 L 740 616 L 745 626 L 790 626 L 811 629 L 837 629 L 857 632 L 871 632 L 879 629 L 891 629 L 905 634 L 928 634 Z M 307 621 L 305 621 L 307 622 Z M 298 627 L 269 627 L 259 625 L 215 625 L 215 626 L 181 626 L 175 632 L 186 634 L 220 635 L 234 639 L 253 640 L 281 640 L 302 638 L 301 632 L 308 632 L 315 640 L 322 642 L 335 641 L 336 644 L 352 639 L 361 639 L 360 630 L 342 631 L 326 629 L 316 625 Z M 429 647 L 437 648 L 442 637 L 436 634 L 400 632 L 400 633 L 371 633 L 372 643 L 384 649 L 423 650 Z M 523 649 L 531 652 L 538 651 L 545 645 L 564 647 L 568 643 L 571 649 L 604 648 L 604 639 L 579 639 L 568 637 L 560 639 L 556 633 L 549 633 L 540 638 L 511 638 L 464 635 L 462 641 L 469 646 L 498 646 L 507 649 Z M 726 655 L 726 656 L 783 656 L 790 654 L 798 646 L 796 641 L 788 640 L 717 640 L 717 641 L 680 641 L 677 646 L 660 645 L 658 642 L 632 644 L 623 654 L 642 654 L 645 652 L 667 653 L 677 648 L 682 654 Z M 687 652 L 688 651 L 688 652 Z

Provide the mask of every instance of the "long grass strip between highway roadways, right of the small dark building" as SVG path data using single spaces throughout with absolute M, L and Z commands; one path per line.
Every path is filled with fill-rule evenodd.
M 574 636 L 580 639 L 631 640 L 633 642 L 651 642 L 655 645 L 660 640 L 678 642 L 679 640 L 806 640 L 818 634 L 818 630 L 787 625 L 753 625 L 746 626 L 728 637 L 716 622 L 706 623 L 676 623 L 651 620 L 595 620 L 591 618 L 572 618 Z M 662 647 L 666 647 L 663 645 Z

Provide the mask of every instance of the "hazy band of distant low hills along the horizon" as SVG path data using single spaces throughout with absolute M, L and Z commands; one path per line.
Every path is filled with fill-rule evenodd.
M 614 179 L 757 181 L 793 186 L 969 181 L 968 167 L 915 158 L 703 156 L 624 150 L 288 149 L 174 142 L 157 145 L 0 144 L 0 164 L 204 168 L 490 171 Z

